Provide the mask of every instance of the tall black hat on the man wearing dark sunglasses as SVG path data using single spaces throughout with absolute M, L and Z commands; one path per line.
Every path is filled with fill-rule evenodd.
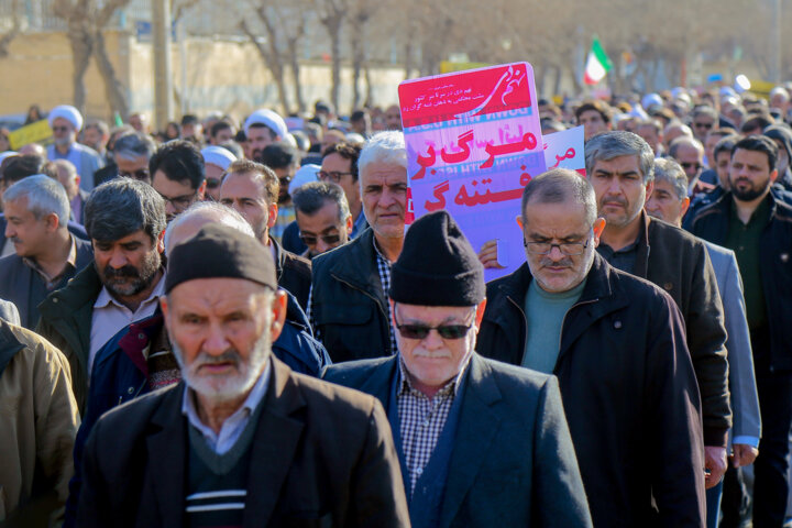
M 447 211 L 410 226 L 391 270 L 391 298 L 418 306 L 474 306 L 484 300 L 484 267 Z

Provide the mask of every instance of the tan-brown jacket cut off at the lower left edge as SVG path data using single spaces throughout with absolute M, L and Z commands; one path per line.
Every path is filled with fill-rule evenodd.
M 46 517 L 66 501 L 78 427 L 66 358 L 40 336 L 0 320 L 0 521 L 8 517 L 9 522 L 4 526 L 38 526 L 26 515 Z

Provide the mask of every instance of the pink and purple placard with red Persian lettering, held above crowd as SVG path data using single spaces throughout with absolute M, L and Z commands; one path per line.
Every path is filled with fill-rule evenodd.
M 446 209 L 475 251 L 497 240 L 491 280 L 525 262 L 516 217 L 544 172 L 534 69 L 514 63 L 399 85 L 413 212 Z

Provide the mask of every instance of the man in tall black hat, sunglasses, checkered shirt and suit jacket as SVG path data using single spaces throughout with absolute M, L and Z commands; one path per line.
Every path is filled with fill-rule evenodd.
M 398 353 L 324 380 L 382 402 L 411 525 L 591 526 L 558 381 L 474 351 L 484 268 L 448 212 L 410 227 L 388 294 Z

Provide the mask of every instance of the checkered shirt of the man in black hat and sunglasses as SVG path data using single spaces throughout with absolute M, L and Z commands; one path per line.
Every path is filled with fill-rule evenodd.
M 429 399 L 413 387 L 409 377 L 406 375 L 404 363 L 399 359 L 396 402 L 398 405 L 402 451 L 409 473 L 410 497 L 446 426 L 461 376 L 462 373 L 447 383 Z

